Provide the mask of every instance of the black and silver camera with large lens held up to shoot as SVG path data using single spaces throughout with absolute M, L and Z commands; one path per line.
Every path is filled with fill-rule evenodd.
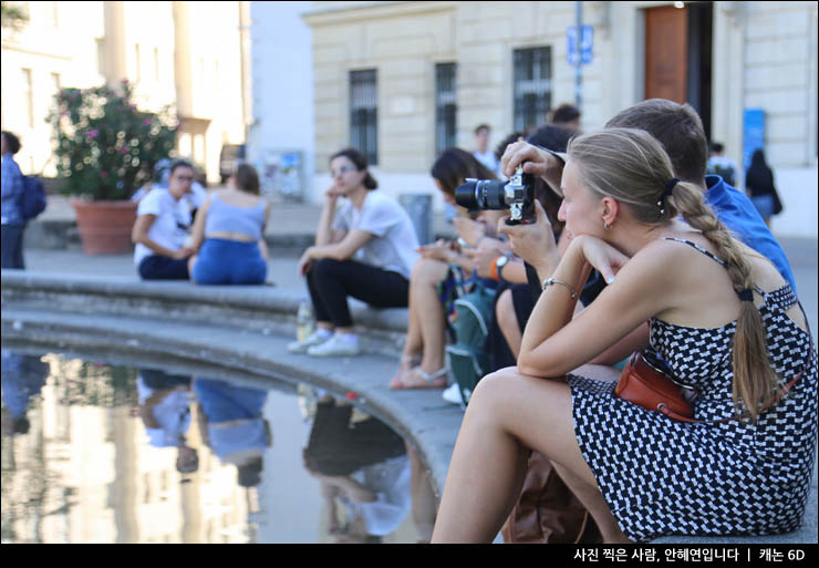
M 509 209 L 507 225 L 535 221 L 532 175 L 523 174 L 522 164 L 517 167 L 509 182 L 467 179 L 455 189 L 455 202 L 469 210 Z

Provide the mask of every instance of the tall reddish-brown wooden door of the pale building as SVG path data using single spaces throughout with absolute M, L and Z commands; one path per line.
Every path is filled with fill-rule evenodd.
M 663 6 L 645 10 L 645 99 L 686 102 L 688 10 Z

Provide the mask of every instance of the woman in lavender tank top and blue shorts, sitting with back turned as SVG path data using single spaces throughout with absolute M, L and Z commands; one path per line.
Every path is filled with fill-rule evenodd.
M 194 221 L 190 279 L 201 285 L 260 285 L 268 272 L 265 225 L 268 205 L 259 195 L 259 176 L 239 164 L 228 188 L 212 193 Z

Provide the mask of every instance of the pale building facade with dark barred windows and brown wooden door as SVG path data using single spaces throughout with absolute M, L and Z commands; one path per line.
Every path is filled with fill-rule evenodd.
M 263 2 L 253 2 L 255 14 L 256 4 Z M 491 127 L 495 147 L 512 132 L 545 123 L 557 105 L 576 103 L 579 91 L 585 131 L 661 96 L 697 109 L 706 134 L 739 164 L 755 136 L 786 206 L 775 231 L 817 235 L 815 2 L 283 4 L 291 7 L 291 28 L 309 25 L 310 40 L 292 37 L 288 50 L 266 58 L 272 64 L 298 50 L 312 53 L 312 90 L 303 89 L 300 100 L 312 96 L 314 134 L 312 142 L 298 141 L 314 156 L 309 200 L 321 199 L 330 183 L 328 158 L 346 145 L 367 153 L 388 193 L 435 195 L 428 172 L 443 147 L 473 149 L 481 123 Z M 303 23 L 292 16 L 294 6 Z M 582 25 L 592 30 L 591 61 L 580 68 L 579 82 L 567 39 L 578 7 Z M 255 38 L 271 24 L 267 18 L 253 17 Z M 255 69 L 255 78 L 267 69 Z M 278 115 L 257 109 L 256 118 L 276 122 Z M 261 138 L 255 144 L 269 145 Z

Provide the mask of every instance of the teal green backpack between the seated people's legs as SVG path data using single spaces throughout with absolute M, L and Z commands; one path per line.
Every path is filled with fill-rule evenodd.
M 454 302 L 455 321 L 452 328 L 455 342 L 446 347 L 446 361 L 465 404 L 469 402 L 478 381 L 491 371 L 485 344 L 494 318 L 496 293 L 496 290 L 478 280 L 469 293 Z

